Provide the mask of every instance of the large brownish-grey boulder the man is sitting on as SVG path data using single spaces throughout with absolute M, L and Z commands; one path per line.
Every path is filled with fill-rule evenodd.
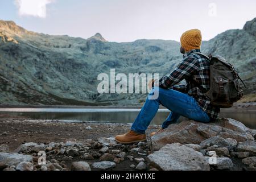
M 234 119 L 218 119 L 216 122 L 200 123 L 192 120 L 170 125 L 151 137 L 151 149 L 159 150 L 168 143 L 200 144 L 211 137 L 233 138 L 238 142 L 253 140 L 250 129 Z

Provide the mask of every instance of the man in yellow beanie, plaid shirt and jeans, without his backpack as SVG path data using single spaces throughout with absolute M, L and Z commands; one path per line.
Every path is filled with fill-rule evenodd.
M 148 94 L 131 130 L 126 134 L 117 135 L 115 137 L 117 142 L 128 144 L 146 140 L 145 131 L 155 117 L 160 104 L 171 110 L 171 113 L 159 131 L 176 123 L 181 115 L 204 123 L 217 119 L 220 108 L 212 106 L 209 98 L 204 94 L 206 92 L 201 90 L 210 89 L 210 64 L 204 56 L 196 54 L 200 52 L 202 43 L 200 30 L 184 32 L 180 42 L 180 52 L 184 54 L 184 59 L 170 75 L 148 83 L 150 87 L 154 87 Z M 176 85 L 184 79 L 187 85 Z M 152 99 L 156 92 L 158 98 Z M 154 134 L 152 133 L 151 136 Z

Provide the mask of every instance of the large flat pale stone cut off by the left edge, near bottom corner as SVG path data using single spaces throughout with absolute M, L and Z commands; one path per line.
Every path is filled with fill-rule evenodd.
M 31 155 L 0 152 L 0 162 L 7 166 L 16 166 L 21 162 L 33 162 L 33 158 Z

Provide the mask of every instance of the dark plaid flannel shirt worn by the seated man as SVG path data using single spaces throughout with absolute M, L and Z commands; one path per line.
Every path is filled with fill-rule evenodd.
M 160 88 L 174 89 L 192 96 L 209 117 L 215 120 L 218 118 L 220 108 L 211 105 L 209 98 L 195 85 L 195 82 L 191 82 L 193 79 L 205 90 L 210 89 L 209 60 L 195 52 L 200 52 L 200 49 L 186 53 L 178 67 L 170 75 L 160 78 L 157 85 Z M 184 79 L 187 85 L 176 85 Z

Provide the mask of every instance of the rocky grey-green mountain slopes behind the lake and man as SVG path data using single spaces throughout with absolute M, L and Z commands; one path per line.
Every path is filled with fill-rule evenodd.
M 202 51 L 224 56 L 245 80 L 246 93 L 256 85 L 256 18 L 243 30 L 229 30 Z M 138 105 L 145 94 L 98 94 L 100 73 L 171 72 L 182 59 L 180 43 L 170 40 L 107 42 L 100 34 L 89 39 L 30 32 L 0 20 L 1 105 Z

